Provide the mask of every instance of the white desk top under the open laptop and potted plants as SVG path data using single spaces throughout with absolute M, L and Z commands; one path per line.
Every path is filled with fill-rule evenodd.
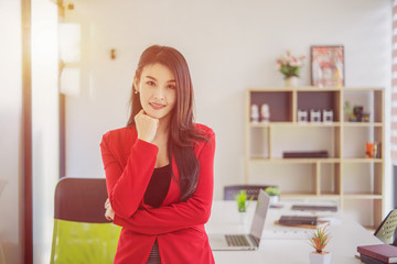
M 281 201 L 281 204 L 283 204 Z M 275 220 L 279 219 L 280 215 L 301 215 L 302 212 L 291 211 L 290 205 L 282 209 L 270 208 L 266 218 L 264 237 L 271 232 L 271 229 L 280 231 L 282 227 L 276 226 Z M 249 232 L 251 218 L 254 216 L 255 204 L 248 207 L 248 221 L 246 227 L 240 223 L 239 216 L 235 201 L 214 201 L 210 221 L 205 224 L 207 233 L 244 233 Z M 303 212 L 308 213 L 308 212 Z M 331 215 L 337 218 L 339 223 L 332 224 L 329 229 L 331 241 L 325 248 L 326 251 L 332 252 L 332 263 L 334 264 L 351 264 L 361 263 L 354 255 L 356 254 L 357 245 L 382 243 L 369 231 L 365 230 L 357 222 L 346 218 L 342 212 L 319 212 L 320 216 Z M 288 232 L 303 232 L 299 228 L 287 228 Z M 291 231 L 292 230 L 292 231 Z M 305 230 L 310 232 L 310 230 Z M 309 245 L 307 239 L 269 239 L 262 238 L 258 251 L 213 251 L 215 263 L 293 263 L 308 264 L 309 253 L 313 249 Z

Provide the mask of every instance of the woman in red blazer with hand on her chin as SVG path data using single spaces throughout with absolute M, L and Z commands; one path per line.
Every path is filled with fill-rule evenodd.
M 115 263 L 214 263 L 204 223 L 215 134 L 193 123 L 193 87 L 176 50 L 150 46 L 133 77 L 127 128 L 100 143 L 106 217 L 121 226 Z

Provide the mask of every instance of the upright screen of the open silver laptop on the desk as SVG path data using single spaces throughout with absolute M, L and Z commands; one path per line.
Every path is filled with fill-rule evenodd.
M 261 189 L 259 191 L 257 206 L 253 219 L 250 234 L 257 239 L 261 238 L 261 233 L 265 227 L 265 219 L 269 209 L 270 197 Z

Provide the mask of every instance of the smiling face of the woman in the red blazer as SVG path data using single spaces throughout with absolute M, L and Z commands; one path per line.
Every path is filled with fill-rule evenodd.
M 173 73 L 162 64 L 147 65 L 139 82 L 135 77 L 143 111 L 155 119 L 169 118 L 176 103 L 176 82 Z

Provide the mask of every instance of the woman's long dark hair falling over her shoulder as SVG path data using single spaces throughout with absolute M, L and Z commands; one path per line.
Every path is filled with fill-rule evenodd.
M 168 46 L 148 47 L 138 63 L 137 82 L 139 82 L 143 68 L 157 63 L 167 66 L 175 77 L 176 105 L 170 119 L 168 157 L 170 162 L 172 162 L 172 157 L 175 158 L 180 174 L 181 200 L 185 201 L 193 195 L 198 182 L 200 167 L 193 145 L 197 141 L 208 141 L 208 139 L 193 125 L 193 85 L 187 63 L 180 52 Z M 136 87 L 132 84 L 131 116 L 127 127 L 135 125 L 135 116 L 142 109 L 139 94 L 135 94 L 135 90 Z

